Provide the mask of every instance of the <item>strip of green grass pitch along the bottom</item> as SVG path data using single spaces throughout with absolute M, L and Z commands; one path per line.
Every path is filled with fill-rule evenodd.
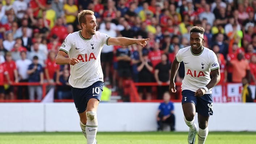
M 98 144 L 187 144 L 188 132 L 98 132 Z M 80 132 L 0 133 L 0 144 L 86 144 Z M 196 140 L 197 144 L 197 140 Z M 209 132 L 206 144 L 256 144 L 256 132 Z

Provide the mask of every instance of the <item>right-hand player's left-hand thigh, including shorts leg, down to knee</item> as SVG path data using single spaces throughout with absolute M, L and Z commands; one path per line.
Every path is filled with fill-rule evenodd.
M 182 109 L 186 120 L 191 121 L 196 115 L 197 98 L 195 92 L 191 90 L 182 90 Z

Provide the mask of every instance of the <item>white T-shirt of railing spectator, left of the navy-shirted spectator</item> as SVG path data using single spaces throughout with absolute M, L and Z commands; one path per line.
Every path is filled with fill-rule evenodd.
M 27 71 L 30 64 L 32 64 L 32 61 L 29 59 L 25 59 L 25 60 L 20 59 L 16 61 L 18 74 L 21 75 L 23 79 L 29 78 Z

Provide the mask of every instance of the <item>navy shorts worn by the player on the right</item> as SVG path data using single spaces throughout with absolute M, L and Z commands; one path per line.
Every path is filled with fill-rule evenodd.
M 194 103 L 196 112 L 203 116 L 213 115 L 213 97 L 211 94 L 204 94 L 202 97 L 196 97 L 195 92 L 191 90 L 182 90 L 181 103 Z

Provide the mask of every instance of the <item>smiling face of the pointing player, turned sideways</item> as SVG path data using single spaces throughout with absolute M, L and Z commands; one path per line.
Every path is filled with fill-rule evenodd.
M 96 33 L 96 17 L 94 15 L 87 14 L 85 16 L 86 22 L 82 23 L 82 27 L 85 28 L 86 32 L 94 35 Z

